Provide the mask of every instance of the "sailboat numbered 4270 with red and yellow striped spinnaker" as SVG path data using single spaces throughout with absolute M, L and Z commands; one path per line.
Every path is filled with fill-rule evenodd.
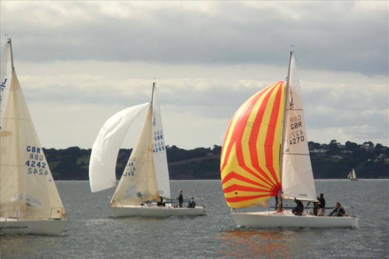
M 220 160 L 230 214 L 237 225 L 249 227 L 358 227 L 357 216 L 244 212 L 246 207 L 266 206 L 275 196 L 317 201 L 295 67 L 294 52 L 290 52 L 286 86 L 279 81 L 260 90 L 230 121 Z

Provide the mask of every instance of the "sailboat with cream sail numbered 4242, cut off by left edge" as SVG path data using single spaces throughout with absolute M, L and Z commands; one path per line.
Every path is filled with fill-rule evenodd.
M 0 88 L 0 232 L 59 235 L 68 219 L 18 82 L 10 38 Z

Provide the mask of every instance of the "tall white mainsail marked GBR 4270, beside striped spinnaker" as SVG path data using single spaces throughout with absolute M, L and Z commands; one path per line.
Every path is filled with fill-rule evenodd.
M 308 150 L 308 139 L 305 131 L 304 114 L 300 94 L 300 83 L 296 65 L 291 55 L 289 92 L 285 105 L 286 130 L 282 150 L 282 189 L 283 197 L 305 201 L 317 200 L 313 180 L 311 159 Z

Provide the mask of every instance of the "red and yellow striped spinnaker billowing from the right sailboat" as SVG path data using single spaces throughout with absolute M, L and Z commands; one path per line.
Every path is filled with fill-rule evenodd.
M 236 111 L 224 138 L 220 172 L 232 208 L 265 205 L 281 190 L 283 81 L 251 96 Z

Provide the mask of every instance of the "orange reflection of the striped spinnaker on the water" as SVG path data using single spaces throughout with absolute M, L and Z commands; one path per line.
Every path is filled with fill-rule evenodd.
M 288 258 L 283 230 L 235 229 L 222 234 L 222 256 Z M 290 255 L 289 255 L 290 256 Z

